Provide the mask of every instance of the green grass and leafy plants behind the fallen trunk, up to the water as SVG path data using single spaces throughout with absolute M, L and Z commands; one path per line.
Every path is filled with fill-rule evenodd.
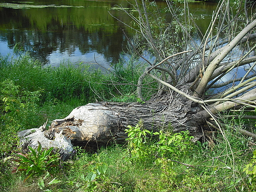
M 17 131 L 38 128 L 47 119 L 50 122 L 64 118 L 75 107 L 89 102 L 106 101 L 134 93 L 136 87 L 128 82 L 138 78 L 141 71 L 133 67 L 131 73 L 130 65 L 121 64 L 116 64 L 115 70 L 111 72 L 68 62 L 63 62 L 58 68 L 43 67 L 26 53 L 19 52 L 16 56 L 0 56 L 2 157 L 15 150 Z M 134 97 L 126 101 L 132 99 Z

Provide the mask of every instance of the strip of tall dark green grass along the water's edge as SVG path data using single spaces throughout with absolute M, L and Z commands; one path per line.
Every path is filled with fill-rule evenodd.
M 109 100 L 134 93 L 141 68 L 114 64 L 114 70 L 100 71 L 84 64 L 63 62 L 60 67 L 42 67 L 28 54 L 18 58 L 0 57 L 0 82 L 12 80 L 20 89 L 41 90 L 41 102 L 80 99 L 82 103 Z M 132 72 L 131 72 L 132 71 Z

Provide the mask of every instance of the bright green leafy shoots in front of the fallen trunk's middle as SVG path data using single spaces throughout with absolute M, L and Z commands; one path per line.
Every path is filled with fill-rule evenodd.
M 152 132 L 141 129 L 141 125 L 140 122 L 135 127 L 128 126 L 128 129 L 125 129 L 128 133 L 128 150 L 132 158 L 146 160 L 150 155 L 158 158 L 176 158 L 185 155 L 192 147 L 192 136 L 188 131 L 168 133 L 160 130 Z M 158 142 L 152 142 L 152 137 L 148 137 L 154 135 L 158 136 Z

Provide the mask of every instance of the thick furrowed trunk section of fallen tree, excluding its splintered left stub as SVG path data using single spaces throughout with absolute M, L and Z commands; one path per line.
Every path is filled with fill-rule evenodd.
M 75 108 L 65 119 L 55 120 L 49 132 L 63 133 L 74 145 L 102 146 L 111 140 L 124 142 L 128 125 L 135 126 L 139 121 L 144 128 L 157 131 L 172 128 L 173 131 L 189 130 L 194 139 L 201 136 L 197 125 L 203 120 L 191 119 L 191 101 L 170 107 L 167 101 L 145 103 L 89 103 Z M 181 100 L 180 100 L 181 101 Z M 182 107 L 181 107 L 182 106 Z M 48 136 L 49 137 L 49 136 Z M 89 143 L 88 143 L 89 142 Z

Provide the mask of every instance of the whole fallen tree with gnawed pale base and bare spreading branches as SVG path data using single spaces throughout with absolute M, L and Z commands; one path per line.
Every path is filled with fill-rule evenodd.
M 229 1 L 220 1 L 198 45 L 192 38 L 192 18 L 187 18 L 191 17 L 189 9 L 184 9 L 185 17 L 181 19 L 171 2 L 166 3 L 173 17 L 164 23 L 164 29 L 162 21 L 158 23 L 160 32 L 153 30 L 151 22 L 155 21 L 150 18 L 152 9 L 146 1 L 141 0 L 139 4 L 135 0 L 133 6 L 138 17 L 124 10 L 138 24 L 134 30 L 144 38 L 155 57 L 153 62 L 146 60 L 129 39 L 133 51 L 148 63 L 138 79 L 137 95 L 144 100 L 145 78 L 159 84 L 155 95 L 137 103 L 100 102 L 77 107 L 66 118 L 53 121 L 49 129 L 42 126 L 21 131 L 24 149 L 28 145 L 36 147 L 40 138 L 43 147 L 60 148 L 66 159 L 72 156 L 73 145 L 95 150 L 111 141 L 124 142 L 127 137 L 124 130 L 139 121 L 150 130 L 189 130 L 194 140 L 198 140 L 209 126 L 222 131 L 219 120 L 223 111 L 256 108 L 256 14 L 242 14 L 241 10 L 247 11 L 248 7 L 238 7 L 237 14 L 231 15 Z M 184 5 L 188 7 L 186 0 Z M 153 12 L 156 17 L 155 10 Z M 241 15 L 246 16 L 244 22 Z M 180 32 L 174 32 L 175 25 L 179 25 Z M 246 70 L 238 76 L 237 72 L 243 67 Z M 225 78 L 230 72 L 232 75 Z M 217 88 L 211 94 L 211 89 Z M 255 136 L 248 130 L 240 129 L 240 132 Z

